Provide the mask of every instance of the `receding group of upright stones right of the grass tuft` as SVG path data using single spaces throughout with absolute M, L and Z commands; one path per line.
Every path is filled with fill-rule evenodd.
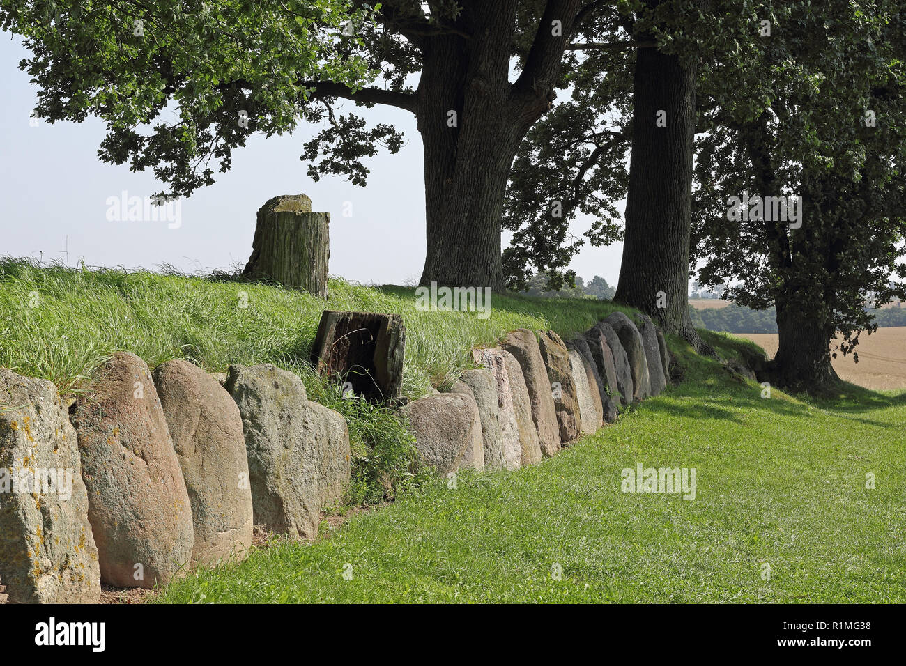
M 448 393 L 403 408 L 419 456 L 447 476 L 535 465 L 670 383 L 666 340 L 646 315 L 636 326 L 610 314 L 565 343 L 518 329 L 472 355 L 481 367 Z

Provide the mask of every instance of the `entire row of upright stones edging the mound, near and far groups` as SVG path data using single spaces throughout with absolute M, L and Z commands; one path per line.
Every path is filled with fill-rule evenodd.
M 670 378 L 663 334 L 622 313 L 567 343 L 520 329 L 473 356 L 481 367 L 450 392 L 401 407 L 421 463 L 442 475 L 535 465 Z M 0 368 L 0 601 L 92 603 L 101 583 L 167 584 L 241 560 L 255 526 L 313 537 L 321 509 L 342 502 L 350 455 L 342 415 L 269 364 L 152 373 L 116 352 L 70 405 L 52 382 Z M 45 476 L 41 492 L 4 487 L 22 470 Z

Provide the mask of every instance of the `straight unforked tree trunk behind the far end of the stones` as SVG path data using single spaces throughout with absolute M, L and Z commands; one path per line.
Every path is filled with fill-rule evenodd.
M 626 234 L 614 300 L 650 314 L 700 352 L 708 348 L 689 317 L 695 79 L 695 69 L 678 57 L 637 49 Z M 659 118 L 666 126 L 658 126 Z

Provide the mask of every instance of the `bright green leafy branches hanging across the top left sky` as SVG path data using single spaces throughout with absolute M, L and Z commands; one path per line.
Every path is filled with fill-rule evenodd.
M 350 0 L 9 0 L 0 26 L 24 37 L 20 63 L 48 121 L 107 123 L 99 156 L 153 169 L 170 194 L 214 182 L 252 132 L 291 131 L 324 110 L 311 82 L 357 90 L 376 76 L 346 21 L 373 24 Z M 171 120 L 175 111 L 176 119 Z M 247 119 L 244 120 L 244 119 Z M 398 147 L 386 131 L 391 150 Z M 352 139 L 351 139 L 352 140 Z

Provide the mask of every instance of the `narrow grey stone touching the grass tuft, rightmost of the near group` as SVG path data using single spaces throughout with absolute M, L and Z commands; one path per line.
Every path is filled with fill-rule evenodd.
M 339 507 L 352 481 L 349 427 L 338 411 L 312 401 L 308 409 L 318 462 L 318 503 L 321 507 Z

